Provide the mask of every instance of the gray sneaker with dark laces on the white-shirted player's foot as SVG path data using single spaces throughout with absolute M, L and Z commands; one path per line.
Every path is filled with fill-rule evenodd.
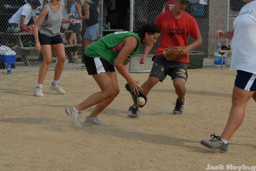
M 214 149 L 218 151 L 228 151 L 228 144 L 225 144 L 220 136 L 211 134 L 211 140 L 201 140 L 201 144 L 209 149 Z

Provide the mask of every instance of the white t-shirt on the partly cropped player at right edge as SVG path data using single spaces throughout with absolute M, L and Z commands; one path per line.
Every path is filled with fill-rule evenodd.
M 243 6 L 233 26 L 230 70 L 256 74 L 256 1 Z

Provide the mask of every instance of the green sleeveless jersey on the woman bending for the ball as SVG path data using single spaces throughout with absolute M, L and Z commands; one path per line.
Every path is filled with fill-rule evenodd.
M 84 54 L 89 57 L 100 57 L 109 63 L 114 64 L 119 52 L 113 50 L 112 48 L 122 43 L 122 41 L 124 41 L 128 36 L 134 36 L 138 40 L 137 47 L 130 54 L 131 57 L 134 57 L 140 52 L 141 38 L 138 33 L 131 31 L 118 31 L 115 33 L 107 34 L 100 40 L 97 40 L 89 45 L 86 48 Z

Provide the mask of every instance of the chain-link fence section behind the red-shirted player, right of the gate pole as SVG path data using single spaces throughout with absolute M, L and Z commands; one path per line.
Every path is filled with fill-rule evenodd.
M 221 45 L 230 45 L 230 41 L 225 39 L 216 40 L 216 31 L 218 29 L 230 30 L 239 10 L 244 6 L 244 2 L 240 0 L 191 0 L 186 12 L 195 17 L 200 32 L 202 34 L 203 43 L 195 50 L 198 53 L 204 53 L 204 66 L 214 65 L 214 54 L 216 43 L 221 42 Z M 134 29 L 138 29 L 145 22 L 154 22 L 159 13 L 172 10 L 173 0 L 134 0 Z M 189 38 L 189 43 L 193 41 Z M 154 56 L 154 52 L 158 43 L 150 52 Z M 230 54 L 227 55 L 226 64 L 230 64 Z M 226 56 L 225 55 L 225 56 Z M 138 64 L 138 59 L 132 61 L 131 70 L 149 71 L 152 66 L 152 61 L 147 59 L 145 64 Z

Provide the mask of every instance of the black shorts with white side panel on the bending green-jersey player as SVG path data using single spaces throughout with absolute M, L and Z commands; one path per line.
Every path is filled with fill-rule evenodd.
M 115 67 L 105 59 L 102 59 L 101 57 L 89 57 L 84 55 L 83 58 L 86 70 L 89 75 L 106 73 L 108 71 L 115 72 Z

